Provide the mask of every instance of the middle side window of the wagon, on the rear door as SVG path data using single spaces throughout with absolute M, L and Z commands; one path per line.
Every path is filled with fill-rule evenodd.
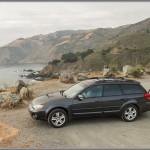
M 104 96 L 122 95 L 119 85 L 104 85 Z

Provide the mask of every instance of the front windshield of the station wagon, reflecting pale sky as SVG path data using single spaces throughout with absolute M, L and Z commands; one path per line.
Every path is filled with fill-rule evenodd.
M 64 91 L 63 95 L 66 96 L 67 98 L 72 98 L 83 89 L 84 87 L 80 83 L 78 83 L 78 84 L 73 85 L 66 91 Z

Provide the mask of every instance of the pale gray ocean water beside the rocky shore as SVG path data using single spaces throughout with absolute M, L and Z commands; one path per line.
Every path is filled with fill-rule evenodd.
M 25 83 L 37 82 L 33 79 L 21 78 L 19 75 L 28 74 L 24 69 L 33 69 L 35 71 L 43 69 L 47 64 L 10 64 L 0 65 L 0 88 L 12 86 L 15 81 L 23 80 Z

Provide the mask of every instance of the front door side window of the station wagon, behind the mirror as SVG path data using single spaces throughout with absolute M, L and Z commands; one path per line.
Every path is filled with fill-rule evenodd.
M 102 85 L 95 85 L 95 86 L 91 86 L 91 87 L 87 88 L 81 94 L 85 98 L 100 97 L 100 96 L 102 96 L 102 90 L 103 90 Z

